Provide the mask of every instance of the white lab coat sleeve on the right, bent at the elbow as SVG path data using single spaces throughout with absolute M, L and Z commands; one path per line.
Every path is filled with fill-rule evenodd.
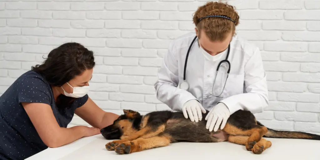
M 262 112 L 268 106 L 268 87 L 266 72 L 257 48 L 244 66 L 245 93 L 230 96 L 220 102 L 224 103 L 233 114 L 237 110 L 249 110 L 252 113 Z

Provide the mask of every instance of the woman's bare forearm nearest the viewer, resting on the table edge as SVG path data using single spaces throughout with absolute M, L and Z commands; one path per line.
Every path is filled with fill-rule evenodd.
M 86 126 L 60 127 L 56 132 L 56 136 L 52 137 L 46 145 L 50 148 L 56 148 L 74 142 L 85 136 L 85 127 Z

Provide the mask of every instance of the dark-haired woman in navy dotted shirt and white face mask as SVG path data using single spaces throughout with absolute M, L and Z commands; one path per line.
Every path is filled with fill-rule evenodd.
M 112 124 L 118 115 L 103 111 L 87 95 L 94 66 L 92 51 L 66 43 L 21 75 L 0 97 L 0 159 L 22 160 Z M 93 127 L 66 128 L 74 114 Z

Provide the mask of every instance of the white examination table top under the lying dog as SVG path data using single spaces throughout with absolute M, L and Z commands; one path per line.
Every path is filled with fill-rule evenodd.
M 177 157 L 182 160 L 320 160 L 320 140 L 266 139 L 272 142 L 272 146 L 260 155 L 230 142 L 180 142 L 117 155 L 114 151 L 106 150 L 105 144 L 110 140 L 105 140 L 99 134 L 59 148 L 48 148 L 26 160 L 176 160 Z

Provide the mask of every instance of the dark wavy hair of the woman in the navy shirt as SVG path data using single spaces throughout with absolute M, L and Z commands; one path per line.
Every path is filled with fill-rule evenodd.
M 69 42 L 53 49 L 41 65 L 31 67 L 31 70 L 42 75 L 50 85 L 60 87 L 94 66 L 92 51 L 79 43 Z M 57 105 L 59 108 L 68 107 L 73 100 L 75 98 L 61 94 Z

